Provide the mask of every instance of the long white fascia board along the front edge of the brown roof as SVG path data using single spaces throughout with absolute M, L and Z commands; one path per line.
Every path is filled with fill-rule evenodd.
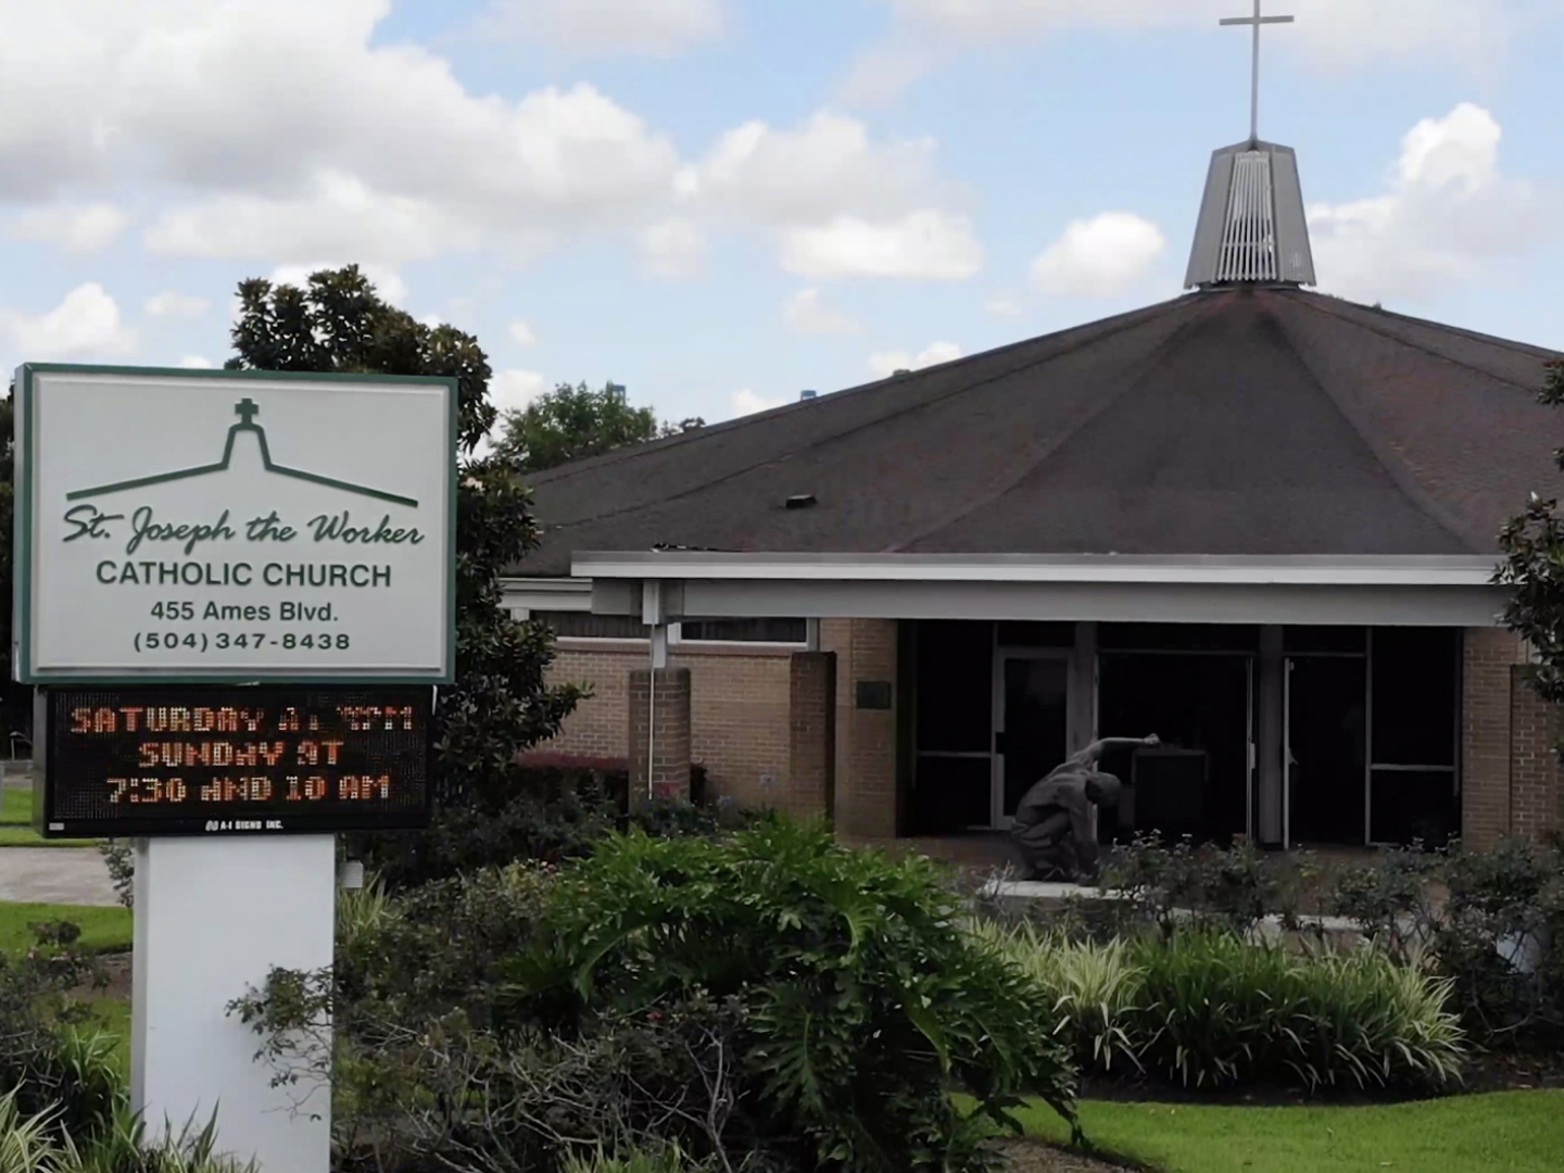
M 946 555 L 580 552 L 577 579 L 881 583 L 1164 583 L 1232 586 L 1489 586 L 1484 555 Z

